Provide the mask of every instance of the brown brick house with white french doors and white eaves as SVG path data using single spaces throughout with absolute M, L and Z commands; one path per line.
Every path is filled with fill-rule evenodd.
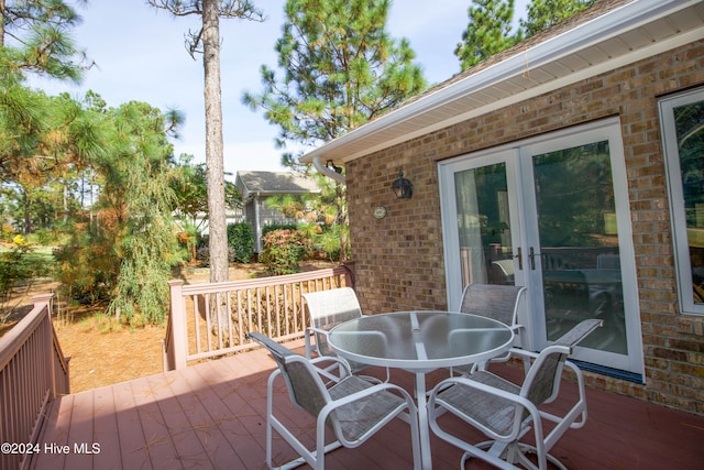
M 345 165 L 366 313 L 515 282 L 525 347 L 604 318 L 593 386 L 704 414 L 703 133 L 704 2 L 606 0 L 301 162 Z

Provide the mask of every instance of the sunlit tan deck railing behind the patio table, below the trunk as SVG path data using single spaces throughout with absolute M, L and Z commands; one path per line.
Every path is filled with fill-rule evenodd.
M 250 331 L 276 340 L 301 338 L 308 315 L 301 294 L 352 285 L 350 267 L 223 283 L 170 281 L 170 315 L 164 346 L 164 371 L 189 361 L 250 349 Z

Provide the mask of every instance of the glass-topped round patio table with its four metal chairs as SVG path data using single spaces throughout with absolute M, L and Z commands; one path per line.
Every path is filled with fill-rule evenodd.
M 530 352 L 519 347 L 522 327 L 516 321 L 524 295 L 525 287 L 519 286 L 469 285 L 458 311 L 362 315 L 350 287 L 304 294 L 311 318 L 305 356 L 262 334 L 249 334 L 278 365 L 267 382 L 268 468 L 307 463 L 322 469 L 327 452 L 341 446 L 358 447 L 400 418 L 410 426 L 415 469 L 431 468 L 431 433 L 463 450 L 460 468 L 479 458 L 504 469 L 520 464 L 542 470 L 548 462 L 564 469 L 550 449 L 568 429 L 582 427 L 586 420 L 582 374 L 566 359 L 602 320 L 583 320 L 541 352 Z M 512 358 L 524 363 L 522 384 L 490 371 L 491 362 Z M 369 367 L 381 367 L 386 376 L 366 375 Z M 566 412 L 546 411 L 543 405 L 559 396 L 565 367 L 576 378 L 579 396 Z M 414 390 L 391 383 L 389 369 L 413 373 Z M 448 378 L 428 391 L 427 373 L 441 369 L 448 370 Z M 316 417 L 314 448 L 274 414 L 279 378 L 292 404 Z M 488 440 L 466 441 L 457 429 L 443 427 L 444 414 L 460 417 Z M 298 459 L 276 467 L 275 433 Z

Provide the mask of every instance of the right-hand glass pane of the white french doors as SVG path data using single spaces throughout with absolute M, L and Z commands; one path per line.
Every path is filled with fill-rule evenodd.
M 581 346 L 627 353 L 608 141 L 536 155 L 534 171 L 548 339 L 602 318 Z

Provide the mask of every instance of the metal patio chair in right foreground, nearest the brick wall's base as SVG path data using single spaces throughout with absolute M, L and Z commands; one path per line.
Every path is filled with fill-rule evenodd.
M 566 358 L 573 347 L 602 323 L 600 319 L 581 321 L 539 354 L 513 350 L 512 354 L 532 361 L 522 385 L 477 370 L 469 376 L 447 379 L 432 390 L 428 401 L 430 428 L 441 439 L 464 450 L 461 468 L 469 458 L 476 457 L 503 469 L 515 469 L 514 463 L 520 463 L 529 469 L 544 470 L 550 461 L 565 470 L 549 453 L 550 449 L 568 429 L 580 428 L 586 422 L 584 380 L 580 369 Z M 542 405 L 558 397 L 564 365 L 576 375 L 579 398 L 566 413 L 556 415 L 544 411 Z M 439 417 L 446 413 L 460 417 L 492 440 L 472 445 L 442 428 Z M 547 436 L 543 419 L 554 423 Z M 531 428 L 535 446 L 520 441 Z M 537 466 L 526 457 L 529 452 L 536 455 Z

